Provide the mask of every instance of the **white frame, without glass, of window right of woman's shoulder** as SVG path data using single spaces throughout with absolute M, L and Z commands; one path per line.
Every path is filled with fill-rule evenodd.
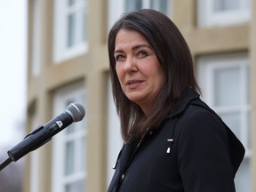
M 200 83 L 200 87 L 202 88 L 203 96 L 202 99 L 215 110 L 217 114 L 222 113 L 231 113 L 231 112 L 239 112 L 239 116 L 241 117 L 240 120 L 240 127 L 239 131 L 241 135 L 239 139 L 244 144 L 245 148 L 245 156 L 251 156 L 251 148 L 250 148 L 250 112 L 251 112 L 251 105 L 246 103 L 247 98 L 250 97 L 250 90 L 249 86 L 246 86 L 246 71 L 249 72 L 249 59 L 248 56 L 244 53 L 240 54 L 225 54 L 225 55 L 215 55 L 215 56 L 202 56 L 197 60 L 197 75 L 198 75 L 198 82 Z M 241 87 L 244 89 L 241 94 L 241 99 L 243 100 L 240 105 L 232 106 L 232 107 L 216 107 L 213 103 L 213 95 L 214 90 L 207 89 L 207 87 L 214 87 L 213 81 L 213 72 L 215 69 L 220 68 L 240 68 L 240 76 L 241 78 Z M 245 95 L 248 94 L 248 95 Z M 250 99 L 249 99 L 250 100 Z M 247 113 L 247 116 L 245 115 Z M 249 114 L 248 114 L 249 113 Z M 221 115 L 220 115 L 221 116 Z M 248 118 L 247 118 L 248 117 Z M 232 129 L 232 127 L 230 127 Z M 249 140 L 248 140 L 249 139 Z

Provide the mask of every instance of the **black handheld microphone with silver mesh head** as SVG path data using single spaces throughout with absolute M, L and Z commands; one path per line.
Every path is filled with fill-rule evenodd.
M 18 161 L 22 156 L 27 155 L 30 151 L 40 148 L 46 142 L 52 139 L 52 136 L 62 131 L 73 122 L 81 121 L 84 118 L 85 110 L 79 103 L 71 103 L 59 116 L 54 117 L 48 123 L 36 128 L 30 132 L 24 140 L 10 149 L 7 154 L 9 156 L 2 164 L 0 171 L 12 161 Z M 2 166 L 4 166 L 2 168 Z

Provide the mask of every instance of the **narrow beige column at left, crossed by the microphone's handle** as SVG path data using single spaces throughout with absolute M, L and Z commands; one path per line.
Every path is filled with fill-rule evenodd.
M 31 1 L 29 2 L 31 3 Z M 36 84 L 40 85 L 40 88 L 34 92 L 36 96 L 36 113 L 38 115 L 38 123 L 44 124 L 52 118 L 52 104 L 50 100 L 50 95 L 48 94 L 46 87 L 46 73 L 47 65 L 51 64 L 52 60 L 52 1 L 51 0 L 39 0 L 39 9 L 41 15 L 40 17 L 40 73 L 39 76 L 34 76 Z M 28 23 L 29 26 L 32 26 L 33 23 Z M 32 26 L 33 28 L 33 26 Z M 30 53 L 31 54 L 31 53 Z M 31 80 L 30 80 L 31 81 Z M 31 92 L 30 92 L 31 93 Z M 29 94 L 29 92 L 28 92 Z M 38 125 L 39 125 L 38 124 Z M 31 127 L 35 129 L 36 127 Z M 38 152 L 38 167 L 37 172 L 37 192 L 51 191 L 51 163 L 52 163 L 52 154 L 51 154 L 51 142 L 45 144 L 43 147 L 36 149 Z M 30 161 L 31 163 L 31 161 Z M 31 166 L 31 164 L 28 164 Z M 32 167 L 29 167 L 30 170 Z M 30 185 L 31 175 L 28 177 L 28 183 Z M 29 188 L 29 186 L 28 186 Z

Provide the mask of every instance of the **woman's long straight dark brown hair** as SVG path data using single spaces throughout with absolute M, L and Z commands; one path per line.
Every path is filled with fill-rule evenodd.
M 144 36 L 164 68 L 164 86 L 158 93 L 157 103 L 147 118 L 141 108 L 124 95 L 116 75 L 114 51 L 116 34 L 121 28 L 137 31 Z M 135 139 L 140 139 L 148 127 L 159 126 L 188 89 L 200 92 L 188 44 L 172 20 L 162 12 L 142 9 L 124 14 L 109 31 L 108 57 L 113 97 L 125 141 L 129 140 L 131 135 Z

